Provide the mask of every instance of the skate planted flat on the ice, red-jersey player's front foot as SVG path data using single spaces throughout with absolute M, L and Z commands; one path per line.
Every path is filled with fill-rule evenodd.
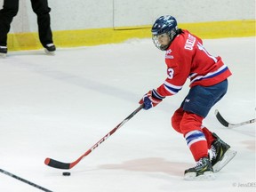
M 214 180 L 212 164 L 208 157 L 201 158 L 196 166 L 185 171 L 184 180 Z

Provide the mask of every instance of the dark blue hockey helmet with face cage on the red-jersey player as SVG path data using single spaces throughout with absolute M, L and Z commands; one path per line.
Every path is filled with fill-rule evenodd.
M 173 38 L 176 36 L 178 30 L 177 20 L 171 15 L 165 15 L 159 17 L 151 28 L 152 40 L 156 47 L 162 51 L 167 50 L 167 48 L 172 43 Z M 166 34 L 169 36 L 169 44 L 160 44 L 158 37 Z

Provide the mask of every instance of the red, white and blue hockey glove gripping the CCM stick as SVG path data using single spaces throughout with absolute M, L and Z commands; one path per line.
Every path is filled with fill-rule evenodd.
M 149 108 L 155 107 L 160 103 L 165 97 L 156 92 L 155 89 L 146 93 L 143 98 L 140 100 L 140 105 L 144 103 L 144 109 L 148 110 Z

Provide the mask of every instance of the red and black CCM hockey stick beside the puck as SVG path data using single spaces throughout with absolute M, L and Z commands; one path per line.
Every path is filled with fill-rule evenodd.
M 46 159 L 44 160 L 44 164 L 46 164 L 46 165 L 48 165 L 48 166 L 51 166 L 51 167 L 53 167 L 53 168 L 57 168 L 57 169 L 71 169 L 71 168 L 74 167 L 76 164 L 78 164 L 78 163 L 84 158 L 84 156 L 88 156 L 88 155 L 92 152 L 92 150 L 94 150 L 95 148 L 99 147 L 100 144 L 101 144 L 103 141 L 107 140 L 108 137 L 110 137 L 114 132 L 116 132 L 117 129 L 119 129 L 123 124 L 125 124 L 127 121 L 129 121 L 129 120 L 132 118 L 132 116 L 135 116 L 135 115 L 140 111 L 140 109 L 143 108 L 143 106 L 144 106 L 143 104 L 140 105 L 140 107 L 137 108 L 136 110 L 134 110 L 130 116 L 127 116 L 127 117 L 124 119 L 124 121 L 122 121 L 120 124 L 116 125 L 116 127 L 115 127 L 113 130 L 111 130 L 110 132 L 108 132 L 108 134 L 106 134 L 101 140 L 99 140 L 95 145 L 93 145 L 92 148 L 88 149 L 88 150 L 84 153 L 84 155 L 82 155 L 82 156 L 80 156 L 78 159 L 76 159 L 76 161 L 74 161 L 74 162 L 72 162 L 72 163 L 63 163 L 63 162 L 56 161 L 56 160 L 54 160 L 54 159 L 48 157 L 48 158 L 46 158 Z

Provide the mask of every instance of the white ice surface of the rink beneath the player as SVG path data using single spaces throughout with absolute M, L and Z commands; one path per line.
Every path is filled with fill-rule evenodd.
M 164 52 L 150 39 L 124 44 L 9 52 L 0 60 L 0 169 L 54 192 L 255 191 L 255 37 L 204 40 L 233 76 L 227 95 L 204 125 L 237 150 L 213 181 L 183 180 L 195 165 L 170 118 L 188 82 L 156 108 L 141 110 L 62 176 L 46 157 L 73 162 L 139 107 L 142 95 L 165 79 Z M 1 192 L 42 191 L 0 172 Z

